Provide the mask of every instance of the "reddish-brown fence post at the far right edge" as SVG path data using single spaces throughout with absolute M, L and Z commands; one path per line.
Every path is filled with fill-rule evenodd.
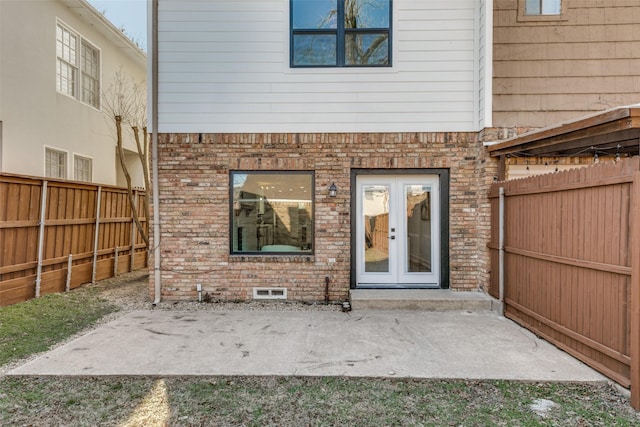
M 631 406 L 640 410 L 640 172 L 631 188 Z

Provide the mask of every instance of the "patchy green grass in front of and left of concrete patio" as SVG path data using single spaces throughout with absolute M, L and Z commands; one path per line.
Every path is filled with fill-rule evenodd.
M 0 308 L 0 365 L 117 306 L 95 288 Z M 344 377 L 0 376 L 0 425 L 640 426 L 606 384 Z

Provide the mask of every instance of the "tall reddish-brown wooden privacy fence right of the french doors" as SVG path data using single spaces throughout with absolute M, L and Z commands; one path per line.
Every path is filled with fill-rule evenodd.
M 633 157 L 495 183 L 489 244 L 490 294 L 503 299 L 505 316 L 630 387 L 635 408 L 639 171 Z

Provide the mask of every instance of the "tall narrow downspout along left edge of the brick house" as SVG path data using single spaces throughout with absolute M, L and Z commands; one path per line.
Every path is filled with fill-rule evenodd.
M 161 299 L 160 281 L 160 190 L 158 188 L 158 0 L 151 1 L 151 174 L 153 189 L 153 279 L 154 300 Z

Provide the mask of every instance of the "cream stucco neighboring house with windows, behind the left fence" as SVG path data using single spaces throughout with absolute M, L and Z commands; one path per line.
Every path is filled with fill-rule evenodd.
M 124 185 L 102 93 L 146 55 L 85 0 L 0 1 L 0 172 Z M 125 127 L 127 163 L 143 186 Z

